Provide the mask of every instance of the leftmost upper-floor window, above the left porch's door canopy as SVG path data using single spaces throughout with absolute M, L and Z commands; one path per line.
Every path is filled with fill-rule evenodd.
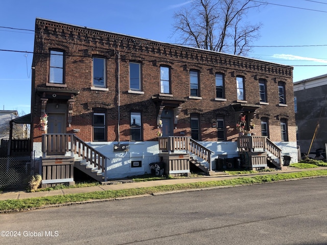
M 50 83 L 63 84 L 63 52 L 50 51 Z

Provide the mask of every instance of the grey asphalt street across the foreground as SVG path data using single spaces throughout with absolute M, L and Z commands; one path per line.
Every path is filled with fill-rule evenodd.
M 0 214 L 0 244 L 325 245 L 326 185 L 320 177 Z

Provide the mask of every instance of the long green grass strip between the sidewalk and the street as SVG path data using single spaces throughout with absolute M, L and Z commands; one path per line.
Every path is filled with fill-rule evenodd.
M 297 173 L 286 173 L 286 174 L 275 174 L 275 175 L 269 174 L 269 175 L 253 176 L 253 177 L 235 178 L 230 180 L 221 180 L 221 181 L 205 181 L 205 182 L 196 182 L 196 183 L 160 185 L 160 186 L 153 186 L 153 187 L 142 187 L 142 188 L 132 188 L 132 189 L 121 189 L 121 190 L 95 191 L 95 192 L 88 192 L 88 193 L 54 195 L 51 197 L 41 197 L 41 198 L 29 198 L 29 199 L 19 199 L 19 200 L 10 199 L 5 201 L 0 201 L 0 211 L 11 211 L 11 210 L 22 211 L 22 210 L 29 210 L 31 208 L 38 208 L 38 207 L 43 207 L 46 205 L 54 205 L 54 204 L 67 204 L 67 203 L 84 202 L 90 200 L 113 199 L 119 197 L 130 197 L 133 195 L 152 194 L 155 192 L 165 192 L 165 191 L 173 191 L 173 190 L 266 183 L 266 182 L 273 182 L 278 180 L 297 179 L 297 178 L 315 177 L 315 176 L 327 176 L 327 170 L 309 170 L 309 171 L 300 171 Z

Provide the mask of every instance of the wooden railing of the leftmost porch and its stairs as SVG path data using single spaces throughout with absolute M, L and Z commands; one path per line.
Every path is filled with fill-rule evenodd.
M 71 157 L 77 154 L 82 159 L 94 164 L 106 176 L 107 157 L 89 146 L 74 134 L 42 134 L 43 157 L 51 155 L 65 155 L 71 152 Z

